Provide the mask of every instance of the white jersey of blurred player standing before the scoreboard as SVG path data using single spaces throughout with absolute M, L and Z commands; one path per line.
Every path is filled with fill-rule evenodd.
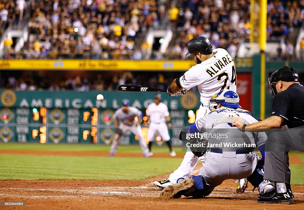
M 165 122 L 165 117 L 169 116 L 168 107 L 163 102 L 158 105 L 153 102 L 148 105 L 146 115 L 150 116 L 150 122 Z

